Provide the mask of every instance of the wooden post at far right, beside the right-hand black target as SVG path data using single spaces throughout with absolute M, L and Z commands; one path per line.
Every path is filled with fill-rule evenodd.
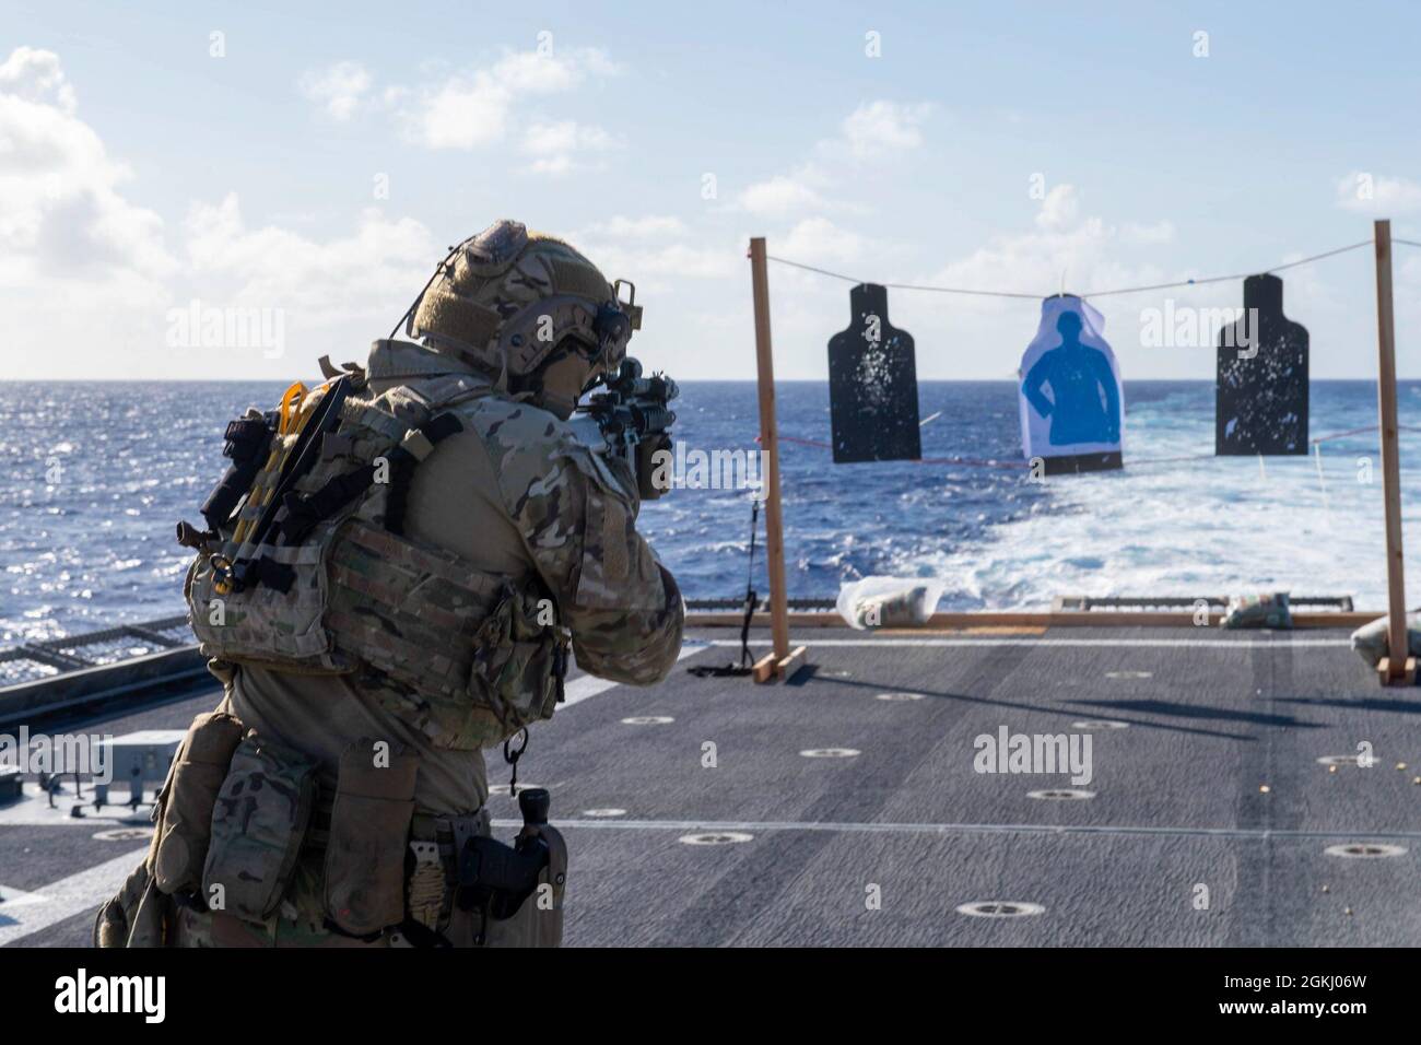
M 1407 636 L 1401 556 L 1401 462 L 1397 458 L 1397 351 L 1391 311 L 1391 222 L 1376 223 L 1377 412 L 1381 422 L 1381 496 L 1387 513 L 1387 657 L 1377 665 L 1383 685 L 1415 681 Z

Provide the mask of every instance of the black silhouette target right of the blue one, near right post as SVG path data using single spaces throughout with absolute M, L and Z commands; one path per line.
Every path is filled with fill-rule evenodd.
M 1243 280 L 1243 317 L 1219 331 L 1216 373 L 1216 455 L 1307 454 L 1307 330 L 1283 316 L 1277 276 Z

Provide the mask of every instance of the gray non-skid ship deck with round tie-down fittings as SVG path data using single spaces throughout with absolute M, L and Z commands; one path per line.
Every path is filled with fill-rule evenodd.
M 1421 943 L 1421 695 L 1380 688 L 1343 631 L 816 630 L 796 636 L 814 674 L 774 687 L 688 675 L 736 653 L 730 630 L 693 637 L 706 638 L 723 645 L 688 643 L 665 684 L 607 688 L 533 729 L 520 778 L 553 789 L 568 840 L 568 945 Z M 904 692 L 921 700 L 878 700 Z M 183 728 L 215 701 L 102 732 Z M 1027 796 L 1066 776 L 973 771 L 979 734 L 1088 719 L 1128 724 L 1090 729 L 1088 800 Z M 1376 765 L 1317 762 L 1360 742 Z M 823 748 L 860 754 L 800 754 Z M 507 782 L 496 756 L 490 781 Z M 490 802 L 509 837 L 514 803 Z M 0 808 L 0 889 L 38 894 L 0 903 L 0 943 L 85 944 L 78 904 L 109 894 L 145 843 L 94 837 L 114 823 L 44 823 L 40 806 Z M 608 809 L 624 813 L 587 812 Z M 698 832 L 749 840 L 681 840 Z M 1405 852 L 1324 853 L 1357 842 Z M 993 900 L 1044 911 L 955 910 Z M 65 903 L 81 913 L 55 918 Z

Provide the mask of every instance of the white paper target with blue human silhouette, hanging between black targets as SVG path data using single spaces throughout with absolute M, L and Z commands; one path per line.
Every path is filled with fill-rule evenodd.
M 1042 301 L 1042 321 L 1022 357 L 1022 448 L 1044 475 L 1121 466 L 1124 397 L 1106 321 L 1074 294 Z

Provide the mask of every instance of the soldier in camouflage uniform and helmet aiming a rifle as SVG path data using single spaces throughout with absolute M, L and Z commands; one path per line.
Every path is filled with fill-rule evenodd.
M 422 343 L 377 341 L 344 375 L 320 459 L 257 540 L 242 520 L 298 445 L 274 435 L 188 580 L 223 701 L 183 742 L 101 944 L 560 940 L 560 843 L 537 910 L 506 921 L 455 903 L 453 864 L 489 833 L 482 748 L 551 715 L 568 643 L 584 671 L 637 685 L 681 648 L 631 469 L 564 424 L 621 361 L 630 316 L 577 250 L 499 222 L 412 306 Z M 395 509 L 379 469 L 402 465 Z M 233 590 L 234 560 L 261 583 Z

